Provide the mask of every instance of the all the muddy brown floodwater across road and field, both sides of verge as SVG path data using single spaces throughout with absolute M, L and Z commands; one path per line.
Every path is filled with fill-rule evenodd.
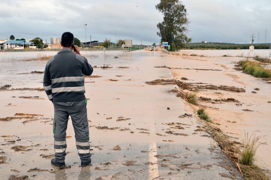
M 213 121 L 221 124 L 224 132 L 239 138 L 237 141 L 241 141 L 244 131 L 258 130 L 260 135 L 266 135 L 263 141 L 268 145 L 260 146 L 257 163 L 270 169 L 271 104 L 267 103 L 271 101 L 270 84 L 233 70 L 232 61 L 242 58 L 186 59 L 145 50 L 109 51 L 105 55 L 102 51 L 82 52 L 89 63 L 97 67 L 94 76 L 85 77 L 92 166 L 79 166 L 70 120 L 68 167 L 51 166 L 53 104 L 39 89 L 43 74 L 31 73 L 44 71 L 46 61 L 24 60 L 54 54 L 56 52 L 51 51 L 0 54 L 0 85 L 11 85 L 0 90 L 1 178 L 14 175 L 29 179 L 241 179 L 216 142 L 201 131 L 202 124 L 193 108 L 169 92 L 178 86 L 145 83 L 155 79 L 181 80 L 182 77 L 188 79 L 182 81 L 189 83 L 228 85 L 246 90 L 201 89 L 199 92 L 206 98 L 234 98 L 242 106 L 236 106 L 236 102 L 200 103 L 219 108 L 209 108 L 207 112 Z M 251 93 L 256 91 L 254 88 L 260 90 Z

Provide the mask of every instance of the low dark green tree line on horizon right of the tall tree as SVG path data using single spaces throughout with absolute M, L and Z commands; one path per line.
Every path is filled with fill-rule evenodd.
M 269 44 L 254 44 L 254 49 L 269 49 Z M 185 44 L 186 49 L 249 49 L 251 44 L 233 44 L 219 42 L 198 42 Z

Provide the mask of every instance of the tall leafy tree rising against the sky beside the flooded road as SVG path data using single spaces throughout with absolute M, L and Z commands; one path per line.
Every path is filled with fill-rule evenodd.
M 192 39 L 185 33 L 188 31 L 188 18 L 185 6 L 179 0 L 160 0 L 155 8 L 164 15 L 164 20 L 157 24 L 161 42 L 168 42 L 171 50 L 184 48 Z

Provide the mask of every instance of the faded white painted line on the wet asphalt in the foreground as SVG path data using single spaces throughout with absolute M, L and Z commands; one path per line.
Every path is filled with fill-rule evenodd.
M 149 145 L 149 179 L 152 180 L 159 176 L 157 158 L 156 141 L 153 141 Z

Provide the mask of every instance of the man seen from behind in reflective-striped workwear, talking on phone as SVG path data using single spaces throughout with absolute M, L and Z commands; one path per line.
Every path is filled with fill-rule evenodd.
M 48 60 L 44 71 L 44 90 L 55 109 L 53 125 L 55 158 L 51 160 L 51 164 L 55 166 L 66 166 L 66 129 L 69 116 L 73 123 L 81 166 L 88 166 L 91 163 L 84 75 L 90 76 L 93 69 L 87 59 L 80 55 L 78 46 L 73 44 L 73 34 L 63 33 L 62 49 Z

